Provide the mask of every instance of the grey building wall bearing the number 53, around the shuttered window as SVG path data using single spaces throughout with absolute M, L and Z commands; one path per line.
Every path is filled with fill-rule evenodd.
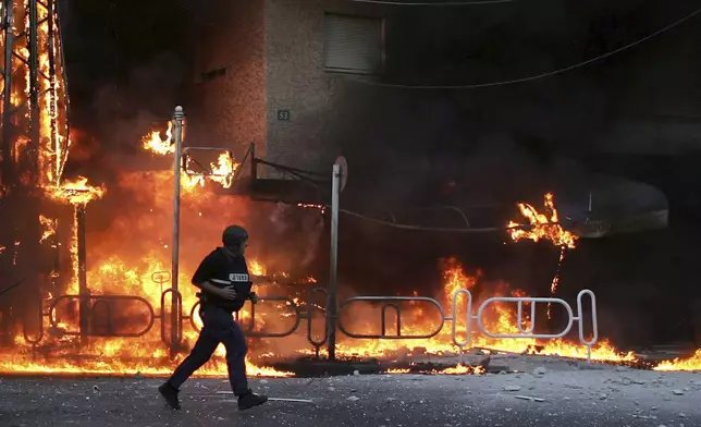
M 381 16 L 350 1 L 266 0 L 268 159 L 327 171 L 341 154 L 334 127 L 348 97 L 344 76 L 323 68 L 324 12 Z M 278 110 L 291 120 L 279 121 Z

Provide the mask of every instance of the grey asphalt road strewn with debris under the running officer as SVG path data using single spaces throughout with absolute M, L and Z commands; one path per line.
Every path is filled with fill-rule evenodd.
M 0 426 L 701 427 L 701 376 L 606 369 L 484 376 L 254 379 L 271 401 L 238 412 L 221 379 L 192 379 L 183 410 L 159 379 L 1 378 Z M 519 396 L 538 398 L 542 401 Z

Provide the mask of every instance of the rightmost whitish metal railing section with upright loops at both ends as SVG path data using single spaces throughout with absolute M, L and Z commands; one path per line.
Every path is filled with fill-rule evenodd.
M 453 315 L 456 316 L 456 310 L 457 310 L 457 300 L 460 294 L 465 294 L 467 296 L 467 309 L 465 313 L 465 333 L 466 333 L 466 339 L 464 341 L 458 341 L 457 340 L 457 321 L 453 322 L 453 330 L 452 330 L 452 335 L 453 335 L 453 343 L 460 347 L 460 351 L 469 345 L 470 339 L 471 339 L 471 328 L 470 325 L 472 320 L 476 321 L 477 324 L 477 329 L 484 334 L 485 337 L 489 338 L 494 338 L 494 339 L 539 339 L 539 340 L 552 340 L 552 339 L 558 339 L 565 337 L 569 331 L 571 330 L 571 327 L 574 322 L 578 322 L 578 334 L 579 334 L 579 342 L 587 347 L 587 359 L 591 361 L 591 347 L 597 343 L 597 340 L 599 339 L 599 325 L 597 322 L 597 298 L 594 296 L 594 293 L 589 291 L 589 290 L 583 290 L 579 292 L 577 295 L 577 315 L 575 316 L 575 313 L 571 309 L 571 306 L 564 300 L 562 298 L 553 298 L 553 297 L 516 297 L 516 296 L 494 296 L 491 298 L 484 300 L 480 306 L 477 309 L 477 315 L 472 315 L 472 294 L 466 290 L 466 289 L 460 289 L 455 294 L 453 294 Z M 592 333 L 593 337 L 590 340 L 587 340 L 585 338 L 585 325 L 583 325 L 583 307 L 582 307 L 582 298 L 585 295 L 589 295 L 591 298 L 591 312 L 592 312 Z M 516 303 L 517 304 L 517 309 L 516 309 L 516 324 L 517 328 L 520 333 L 493 333 L 487 330 L 482 315 L 484 314 L 484 309 L 493 303 L 496 302 L 503 302 L 503 303 Z M 524 328 L 524 304 L 528 303 L 531 305 L 531 316 L 530 316 L 530 328 Z M 565 312 L 567 313 L 567 326 L 559 332 L 559 333 L 533 333 L 534 327 L 536 327 L 536 304 L 537 303 L 548 303 L 548 304 L 559 304 L 563 307 L 565 307 Z

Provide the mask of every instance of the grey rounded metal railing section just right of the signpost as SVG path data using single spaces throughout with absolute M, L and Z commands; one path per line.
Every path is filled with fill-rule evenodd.
M 348 306 L 350 303 L 360 302 L 360 301 L 365 301 L 369 303 L 382 303 L 382 320 L 381 320 L 382 333 L 380 334 L 352 333 L 343 326 L 343 324 L 341 322 L 341 313 L 343 312 L 343 309 L 346 306 Z M 439 314 L 441 315 L 441 322 L 438 326 L 438 328 L 435 328 L 435 330 L 433 330 L 430 333 L 419 334 L 419 335 L 402 334 L 402 330 L 401 330 L 402 309 L 399 308 L 399 305 L 390 304 L 390 303 L 403 303 L 403 302 L 411 302 L 411 301 L 420 301 L 420 302 L 429 303 L 435 306 L 435 308 L 438 308 Z M 384 314 L 388 307 L 393 307 L 397 314 L 397 333 L 396 334 L 386 334 Z M 454 321 L 454 316 L 445 316 L 445 310 L 441 306 L 441 303 L 439 303 L 433 298 L 429 298 L 427 296 L 354 296 L 352 298 L 344 301 L 339 307 L 337 327 L 339 327 L 339 330 L 341 330 L 341 332 L 343 332 L 345 335 L 349 338 L 373 339 L 373 340 L 420 340 L 420 339 L 427 339 L 427 338 L 432 338 L 438 335 L 443 329 L 443 325 L 445 325 L 446 321 Z

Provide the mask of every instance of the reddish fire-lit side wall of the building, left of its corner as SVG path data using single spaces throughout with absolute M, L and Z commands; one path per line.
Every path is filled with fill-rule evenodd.
M 250 142 L 266 154 L 263 0 L 208 0 L 199 21 L 195 64 L 197 106 L 189 114 L 196 145 L 229 147 L 243 159 Z M 225 74 L 202 75 L 219 69 Z

